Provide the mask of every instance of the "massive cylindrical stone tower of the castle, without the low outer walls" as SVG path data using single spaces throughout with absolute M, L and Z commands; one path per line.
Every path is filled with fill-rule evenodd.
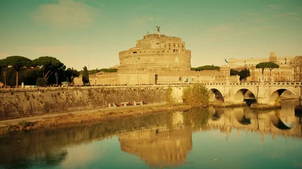
M 160 34 L 145 35 L 136 46 L 119 52 L 122 72 L 190 70 L 191 51 L 180 38 Z

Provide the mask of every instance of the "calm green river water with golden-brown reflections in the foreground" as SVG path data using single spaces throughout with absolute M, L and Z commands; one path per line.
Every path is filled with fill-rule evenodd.
M 0 137 L 0 168 L 302 168 L 296 104 L 269 111 L 191 109 L 11 133 Z

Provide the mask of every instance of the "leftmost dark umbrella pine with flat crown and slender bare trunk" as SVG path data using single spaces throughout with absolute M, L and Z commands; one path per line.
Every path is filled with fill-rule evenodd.
M 23 56 L 9 56 L 6 59 L 1 60 L 2 66 L 11 66 L 16 71 L 16 87 L 18 88 L 18 78 L 19 78 L 19 72 L 23 69 L 26 69 L 30 67 L 32 64 L 32 61 L 26 57 Z

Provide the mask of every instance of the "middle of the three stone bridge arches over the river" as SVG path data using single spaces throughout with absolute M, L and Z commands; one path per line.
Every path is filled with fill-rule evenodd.
M 257 101 L 257 94 L 252 89 L 247 87 L 242 87 L 234 90 L 235 93 L 233 95 L 233 100 L 235 103 L 244 102 L 245 98 L 247 99 L 255 99 Z

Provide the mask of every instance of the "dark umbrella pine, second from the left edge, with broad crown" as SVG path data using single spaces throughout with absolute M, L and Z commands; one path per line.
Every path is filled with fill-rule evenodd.
M 43 78 L 47 81 L 49 76 L 58 70 L 65 70 L 66 66 L 51 56 L 42 56 L 33 60 L 35 66 L 43 69 Z

